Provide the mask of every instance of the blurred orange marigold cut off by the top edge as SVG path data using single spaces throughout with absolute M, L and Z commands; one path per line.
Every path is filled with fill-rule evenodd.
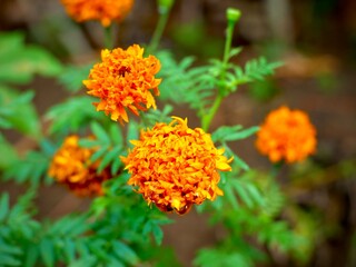
M 67 13 L 76 21 L 100 20 L 103 27 L 121 21 L 130 12 L 134 0 L 61 0 Z

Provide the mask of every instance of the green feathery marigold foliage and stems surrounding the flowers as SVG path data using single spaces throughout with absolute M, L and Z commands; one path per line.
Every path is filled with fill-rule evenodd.
M 158 33 L 162 32 L 170 7 L 164 10 L 162 13 L 164 17 L 159 19 Z M 110 29 L 106 29 L 106 38 Z M 227 29 L 230 37 L 233 30 L 234 27 Z M 192 38 L 182 37 L 181 32 Z M 196 40 L 207 40 L 201 32 L 204 29 L 195 32 L 182 27 L 178 39 L 192 48 Z M 156 36 L 146 51 L 161 62 L 158 73 L 162 79 L 161 102 L 158 102 L 161 108 L 140 111 L 122 126 L 96 111 L 92 98 L 81 92 L 91 61 L 80 66 L 61 63 L 44 49 L 27 44 L 24 39 L 20 32 L 0 34 L 0 129 L 6 134 L 16 131 L 33 144 L 20 154 L 6 139 L 7 135 L 0 134 L 1 181 L 14 181 L 27 188 L 18 199 L 1 192 L 0 266 L 180 266 L 174 250 L 162 245 L 162 226 L 174 221 L 154 204 L 148 206 L 127 185 L 129 175 L 119 158 L 132 148 L 130 141 L 139 139 L 140 130 L 157 122 L 170 122 L 170 116 L 177 115 L 175 111 L 180 105 L 196 112 L 199 127 L 210 132 L 225 156 L 234 159 L 229 161 L 233 170 L 219 174 L 224 197 L 196 207 L 198 212 L 208 214 L 212 227 L 224 228 L 224 235 L 214 246 L 197 253 L 194 266 L 249 267 L 273 263 L 280 255 L 293 265 L 303 266 L 309 263 L 318 243 L 338 230 L 335 225 L 323 225 L 324 214 L 317 207 L 306 209 L 298 205 L 294 190 L 316 188 L 323 182 L 354 176 L 355 160 L 326 170 L 315 165 L 296 168 L 295 176 L 280 182 L 275 171 L 279 165 L 267 174 L 248 166 L 231 148 L 254 136 L 259 127 L 220 125 L 209 131 L 221 101 L 236 93 L 239 86 L 250 83 L 255 97 L 268 99 L 274 88 L 266 79 L 279 62 L 259 57 L 239 66 L 234 57 L 241 48 L 231 49 L 229 38 L 222 59 L 201 63 L 188 56 L 177 60 L 172 51 L 154 49 L 159 40 Z M 220 42 L 214 41 L 202 53 L 211 56 L 210 47 L 215 50 L 221 47 Z M 69 96 L 51 106 L 43 119 L 33 103 L 36 90 L 17 88 L 27 88 L 37 75 L 55 78 Z M 102 185 L 105 194 L 92 198 L 85 211 L 69 212 L 58 219 L 41 218 L 36 206 L 39 188 L 57 186 L 55 179 L 48 177 L 48 168 L 69 135 L 80 137 L 80 148 L 95 151 L 90 162 L 98 162 L 97 175 L 108 170 L 110 179 Z M 355 240 L 353 243 L 355 245 Z M 350 249 L 353 263 L 354 247 Z

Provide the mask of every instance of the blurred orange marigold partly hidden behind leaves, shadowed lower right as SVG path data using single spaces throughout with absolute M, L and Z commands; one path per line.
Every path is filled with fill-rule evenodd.
M 68 186 L 78 196 L 102 195 L 102 182 L 110 179 L 109 169 L 97 174 L 99 161 L 90 162 L 96 149 L 78 145 L 78 136 L 69 136 L 56 152 L 48 175 Z

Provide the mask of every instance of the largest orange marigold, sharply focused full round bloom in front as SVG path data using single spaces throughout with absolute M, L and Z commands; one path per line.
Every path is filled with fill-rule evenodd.
M 141 131 L 135 148 L 121 157 L 129 174 L 129 185 L 148 204 L 162 211 L 185 214 L 194 204 L 222 196 L 218 170 L 231 170 L 224 149 L 217 149 L 202 129 L 190 129 L 187 119 L 172 117 L 169 123 L 156 123 Z

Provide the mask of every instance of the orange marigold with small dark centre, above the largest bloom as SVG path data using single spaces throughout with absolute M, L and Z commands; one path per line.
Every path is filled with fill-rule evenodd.
M 111 113 L 112 120 L 128 122 L 126 108 L 137 116 L 138 110 L 156 109 L 150 90 L 159 95 L 160 79 L 155 79 L 155 75 L 160 69 L 160 62 L 154 56 L 142 56 L 144 48 L 138 44 L 127 50 L 101 51 L 102 62 L 95 65 L 89 79 L 83 81 L 88 93 L 101 100 L 95 103 L 98 111 Z

